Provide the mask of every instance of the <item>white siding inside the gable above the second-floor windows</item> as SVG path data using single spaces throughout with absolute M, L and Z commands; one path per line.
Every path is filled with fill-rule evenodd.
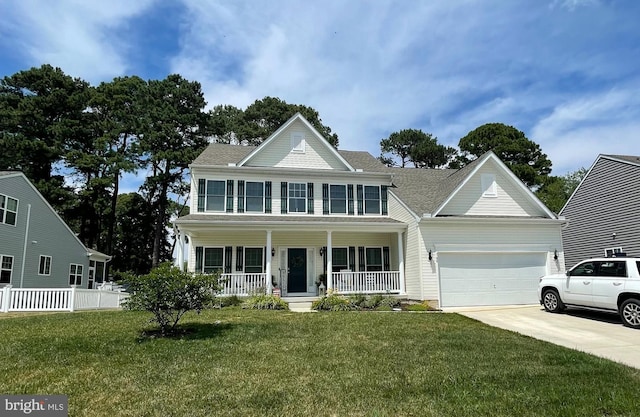
M 292 152 L 292 132 L 303 134 L 304 153 Z M 321 139 L 298 120 L 280 132 L 267 147 L 258 150 L 258 153 L 248 161 L 246 166 L 347 171 L 344 163 L 327 149 L 327 144 L 322 143 Z

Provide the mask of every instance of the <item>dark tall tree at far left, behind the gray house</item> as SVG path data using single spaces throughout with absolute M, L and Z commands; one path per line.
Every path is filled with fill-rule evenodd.
M 88 98 L 87 82 L 51 65 L 0 80 L 0 169 L 24 172 L 60 212 L 73 196 L 54 166 L 84 134 Z

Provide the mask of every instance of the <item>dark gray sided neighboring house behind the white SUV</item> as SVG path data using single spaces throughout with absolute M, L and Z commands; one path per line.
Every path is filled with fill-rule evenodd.
M 640 256 L 640 156 L 599 155 L 560 215 L 567 267 L 616 252 Z

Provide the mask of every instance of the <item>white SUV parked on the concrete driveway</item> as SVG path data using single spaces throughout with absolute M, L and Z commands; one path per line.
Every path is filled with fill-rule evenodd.
M 544 309 L 565 307 L 615 311 L 625 326 L 640 329 L 640 258 L 593 258 L 566 274 L 545 275 L 538 284 Z

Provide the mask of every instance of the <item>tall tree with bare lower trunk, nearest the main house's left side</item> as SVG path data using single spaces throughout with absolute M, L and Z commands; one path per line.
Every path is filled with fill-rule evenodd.
M 209 125 L 200 83 L 173 74 L 148 84 L 150 117 L 140 146 L 141 161 L 150 172 L 143 187 L 155 214 L 155 267 L 162 261 L 161 248 L 166 245 L 169 194 L 184 192 L 185 171 L 206 146 Z

